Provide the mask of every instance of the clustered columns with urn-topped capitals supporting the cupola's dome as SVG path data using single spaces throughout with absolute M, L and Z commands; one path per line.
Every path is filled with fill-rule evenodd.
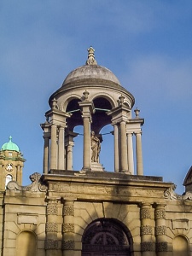
M 84 92 L 84 101 L 79 102 L 81 117 L 84 125 L 84 171 L 91 171 L 91 148 L 90 148 L 90 124 L 91 116 L 95 113 L 93 102 L 88 101 L 89 93 Z M 122 100 L 122 99 L 121 99 Z M 46 113 L 49 121 L 42 124 L 44 130 L 44 173 L 49 169 L 73 170 L 73 138 L 78 134 L 67 131 L 67 118 L 69 113 L 64 113 L 54 107 Z M 123 102 L 117 108 L 108 111 L 112 117 L 114 136 L 114 172 L 134 174 L 134 150 L 132 137 L 136 136 L 136 162 L 137 175 L 143 175 L 142 154 L 142 130 L 143 119 L 138 115 L 135 119 L 129 119 L 128 108 Z

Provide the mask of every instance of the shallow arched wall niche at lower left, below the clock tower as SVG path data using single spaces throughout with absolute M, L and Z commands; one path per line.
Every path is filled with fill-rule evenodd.
M 16 256 L 36 256 L 37 237 L 30 230 L 21 231 L 16 239 Z

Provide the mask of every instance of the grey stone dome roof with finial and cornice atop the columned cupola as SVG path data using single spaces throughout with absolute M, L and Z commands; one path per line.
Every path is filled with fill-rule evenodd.
M 105 90 L 117 90 L 119 93 L 124 93 L 130 98 L 131 106 L 134 105 L 135 99 L 131 93 L 126 90 L 119 82 L 119 79 L 107 67 L 97 65 L 95 59 L 95 49 L 91 46 L 88 50 L 88 59 L 84 66 L 74 69 L 67 75 L 61 87 L 49 96 L 49 106 L 52 108 L 52 101 L 60 98 L 68 90 L 93 90 L 105 88 Z

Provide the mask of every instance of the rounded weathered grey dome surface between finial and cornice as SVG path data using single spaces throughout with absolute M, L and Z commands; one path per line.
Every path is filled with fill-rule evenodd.
M 108 68 L 99 65 L 84 65 L 69 73 L 62 86 L 73 83 L 79 84 L 84 79 L 91 79 L 97 84 L 100 84 L 100 81 L 108 81 L 117 86 L 120 85 L 119 79 Z

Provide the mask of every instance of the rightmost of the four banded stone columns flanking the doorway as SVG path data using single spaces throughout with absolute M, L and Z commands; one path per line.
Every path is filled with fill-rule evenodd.
M 156 204 L 154 210 L 155 218 L 155 236 L 156 236 L 156 252 L 158 256 L 165 255 L 167 252 L 166 242 L 166 205 Z

